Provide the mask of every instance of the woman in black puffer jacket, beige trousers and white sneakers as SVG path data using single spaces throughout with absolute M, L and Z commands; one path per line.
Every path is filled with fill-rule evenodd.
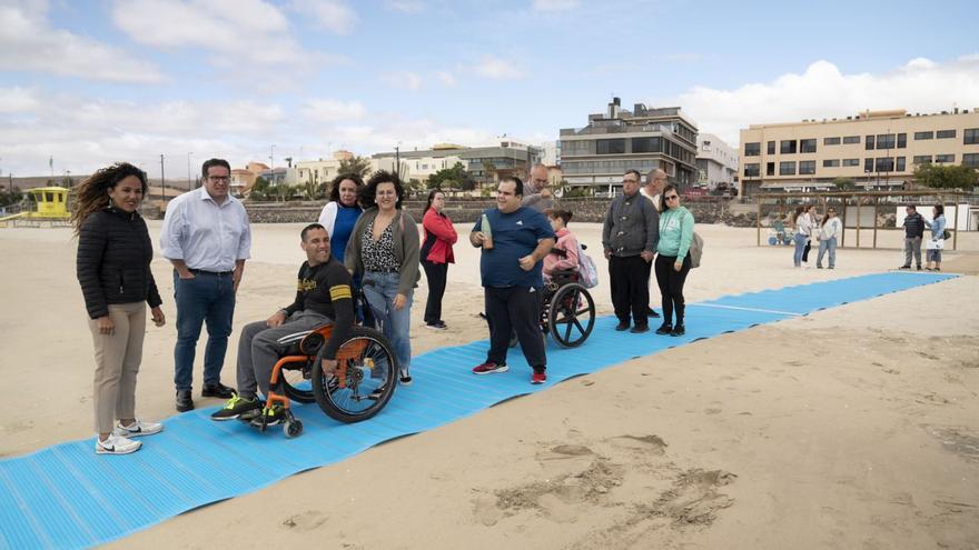
M 126 454 L 162 424 L 136 418 L 136 374 L 142 360 L 146 307 L 166 322 L 149 264 L 152 243 L 137 212 L 146 174 L 129 163 L 103 168 L 78 186 L 71 222 L 78 236 L 77 271 L 96 354 L 92 402 L 96 452 Z M 119 423 L 113 426 L 118 419 Z

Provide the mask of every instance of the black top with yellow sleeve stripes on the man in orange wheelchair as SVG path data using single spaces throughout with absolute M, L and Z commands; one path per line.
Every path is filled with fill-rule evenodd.
M 296 311 L 316 311 L 333 320 L 334 329 L 326 342 L 324 358 L 334 359 L 354 326 L 350 273 L 334 257 L 312 268 L 308 261 L 304 261 L 299 267 L 296 300 L 284 309 L 290 316 Z

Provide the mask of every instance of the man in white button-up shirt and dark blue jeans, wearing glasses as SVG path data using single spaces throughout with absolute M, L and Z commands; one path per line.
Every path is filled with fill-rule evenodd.
M 241 201 L 231 197 L 231 167 L 210 159 L 202 167 L 204 187 L 170 201 L 160 232 L 164 258 L 174 264 L 177 346 L 174 383 L 177 411 L 194 409 L 194 356 L 200 327 L 207 323 L 202 397 L 228 399 L 221 367 L 231 334 L 235 293 L 251 249 L 251 229 Z

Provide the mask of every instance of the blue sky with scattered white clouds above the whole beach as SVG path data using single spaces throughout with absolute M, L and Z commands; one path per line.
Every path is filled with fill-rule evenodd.
M 543 142 L 619 96 L 750 123 L 979 108 L 975 4 L 0 0 L 0 177 Z

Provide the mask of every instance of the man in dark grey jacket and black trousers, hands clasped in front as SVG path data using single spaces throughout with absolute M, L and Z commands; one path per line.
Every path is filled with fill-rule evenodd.
M 642 177 L 630 170 L 622 177 L 623 194 L 612 200 L 602 228 L 602 247 L 609 260 L 612 306 L 619 324 L 615 330 L 640 333 L 650 330 L 650 266 L 660 240 L 660 214 L 652 201 L 639 192 Z

